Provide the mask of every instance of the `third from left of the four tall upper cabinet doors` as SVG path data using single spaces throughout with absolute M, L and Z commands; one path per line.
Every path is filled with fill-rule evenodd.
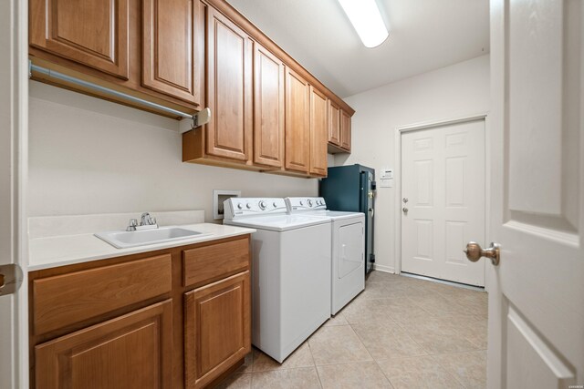
M 310 86 L 286 69 L 286 169 L 308 172 L 310 158 Z

